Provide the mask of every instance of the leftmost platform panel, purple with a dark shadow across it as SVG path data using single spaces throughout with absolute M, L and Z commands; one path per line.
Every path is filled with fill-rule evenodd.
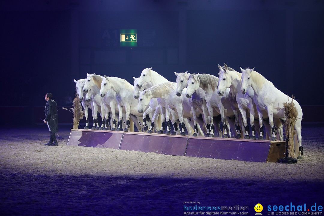
M 123 132 L 71 129 L 68 145 L 119 149 Z

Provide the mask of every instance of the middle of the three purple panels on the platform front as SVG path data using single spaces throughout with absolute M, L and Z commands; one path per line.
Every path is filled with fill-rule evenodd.
M 188 139 L 180 135 L 128 132 L 124 133 L 120 149 L 184 156 Z

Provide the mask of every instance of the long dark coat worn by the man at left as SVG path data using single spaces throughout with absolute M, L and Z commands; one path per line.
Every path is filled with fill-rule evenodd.
M 56 133 L 58 128 L 57 104 L 55 100 L 48 100 L 45 106 L 45 121 L 50 126 L 51 133 Z

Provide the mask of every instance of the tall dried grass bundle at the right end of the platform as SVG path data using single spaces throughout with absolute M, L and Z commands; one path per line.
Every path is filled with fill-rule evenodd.
M 288 97 L 289 101 L 289 97 Z M 294 96 L 292 96 L 292 100 L 289 103 L 284 103 L 284 114 L 286 116 L 286 142 L 287 142 L 287 150 L 288 157 L 295 157 L 295 145 L 294 145 L 294 136 L 295 136 L 295 122 L 297 120 L 298 111 L 294 104 Z

